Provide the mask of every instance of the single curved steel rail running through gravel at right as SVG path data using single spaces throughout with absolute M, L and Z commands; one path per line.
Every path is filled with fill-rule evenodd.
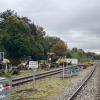
M 76 96 L 79 94 L 81 89 L 84 87 L 84 85 L 89 81 L 89 79 L 92 77 L 94 71 L 96 69 L 96 66 L 94 66 L 93 70 L 89 73 L 89 75 L 82 81 L 81 85 L 74 91 L 74 93 L 67 99 L 67 100 L 74 100 Z

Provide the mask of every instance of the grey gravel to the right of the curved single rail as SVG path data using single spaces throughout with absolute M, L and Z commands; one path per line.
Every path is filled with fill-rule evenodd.
M 97 86 L 100 85 L 100 84 L 97 84 L 98 75 L 100 76 L 99 72 L 100 72 L 100 66 L 97 66 L 93 76 L 90 78 L 88 83 L 82 88 L 81 92 L 75 98 L 75 100 L 100 100 L 100 98 L 98 99 L 96 97 L 96 95 L 98 94 Z

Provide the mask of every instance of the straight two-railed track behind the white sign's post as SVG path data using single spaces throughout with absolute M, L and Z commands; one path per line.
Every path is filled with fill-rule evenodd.
M 68 70 L 69 68 L 72 68 L 72 67 L 74 67 L 74 66 L 65 68 L 65 70 Z M 41 79 L 41 78 L 44 78 L 44 77 L 47 77 L 47 76 L 55 75 L 55 74 L 61 73 L 62 71 L 63 71 L 63 69 L 60 68 L 60 69 L 57 69 L 57 70 L 54 70 L 54 71 L 49 71 L 49 72 L 44 72 L 44 73 L 41 73 L 41 74 L 36 74 L 35 79 L 37 80 L 37 79 Z M 23 78 L 13 79 L 12 80 L 12 86 L 15 87 L 15 86 L 21 85 L 23 83 L 30 82 L 32 80 L 33 80 L 32 75 L 27 76 L 27 77 L 23 77 Z

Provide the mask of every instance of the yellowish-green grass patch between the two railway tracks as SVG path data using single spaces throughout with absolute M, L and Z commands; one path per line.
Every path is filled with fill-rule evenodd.
M 24 84 L 13 89 L 12 100 L 52 100 L 52 97 L 63 93 L 66 85 L 70 86 L 70 80 L 71 78 L 63 80 L 55 76 L 41 79 L 36 81 L 36 91 L 32 90 L 32 82 Z

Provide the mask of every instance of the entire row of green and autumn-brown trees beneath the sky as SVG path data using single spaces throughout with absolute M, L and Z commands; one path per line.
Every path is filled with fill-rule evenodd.
M 28 56 L 33 60 L 46 60 L 48 55 L 68 58 L 99 59 L 95 53 L 82 49 L 68 50 L 67 44 L 58 37 L 48 36 L 43 27 L 35 25 L 28 17 L 20 17 L 12 10 L 0 13 L 0 51 L 11 61 Z

